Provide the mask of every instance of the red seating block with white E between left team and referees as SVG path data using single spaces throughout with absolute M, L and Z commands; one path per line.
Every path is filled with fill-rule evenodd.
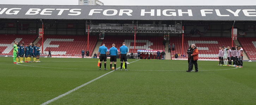
M 91 57 L 97 42 L 97 36 L 90 36 L 89 40 L 89 56 Z M 42 39 L 38 43 L 41 44 Z M 87 35 L 44 35 L 43 48 L 43 55 L 48 55 L 50 48 L 51 55 L 80 56 L 82 49 L 87 50 Z

